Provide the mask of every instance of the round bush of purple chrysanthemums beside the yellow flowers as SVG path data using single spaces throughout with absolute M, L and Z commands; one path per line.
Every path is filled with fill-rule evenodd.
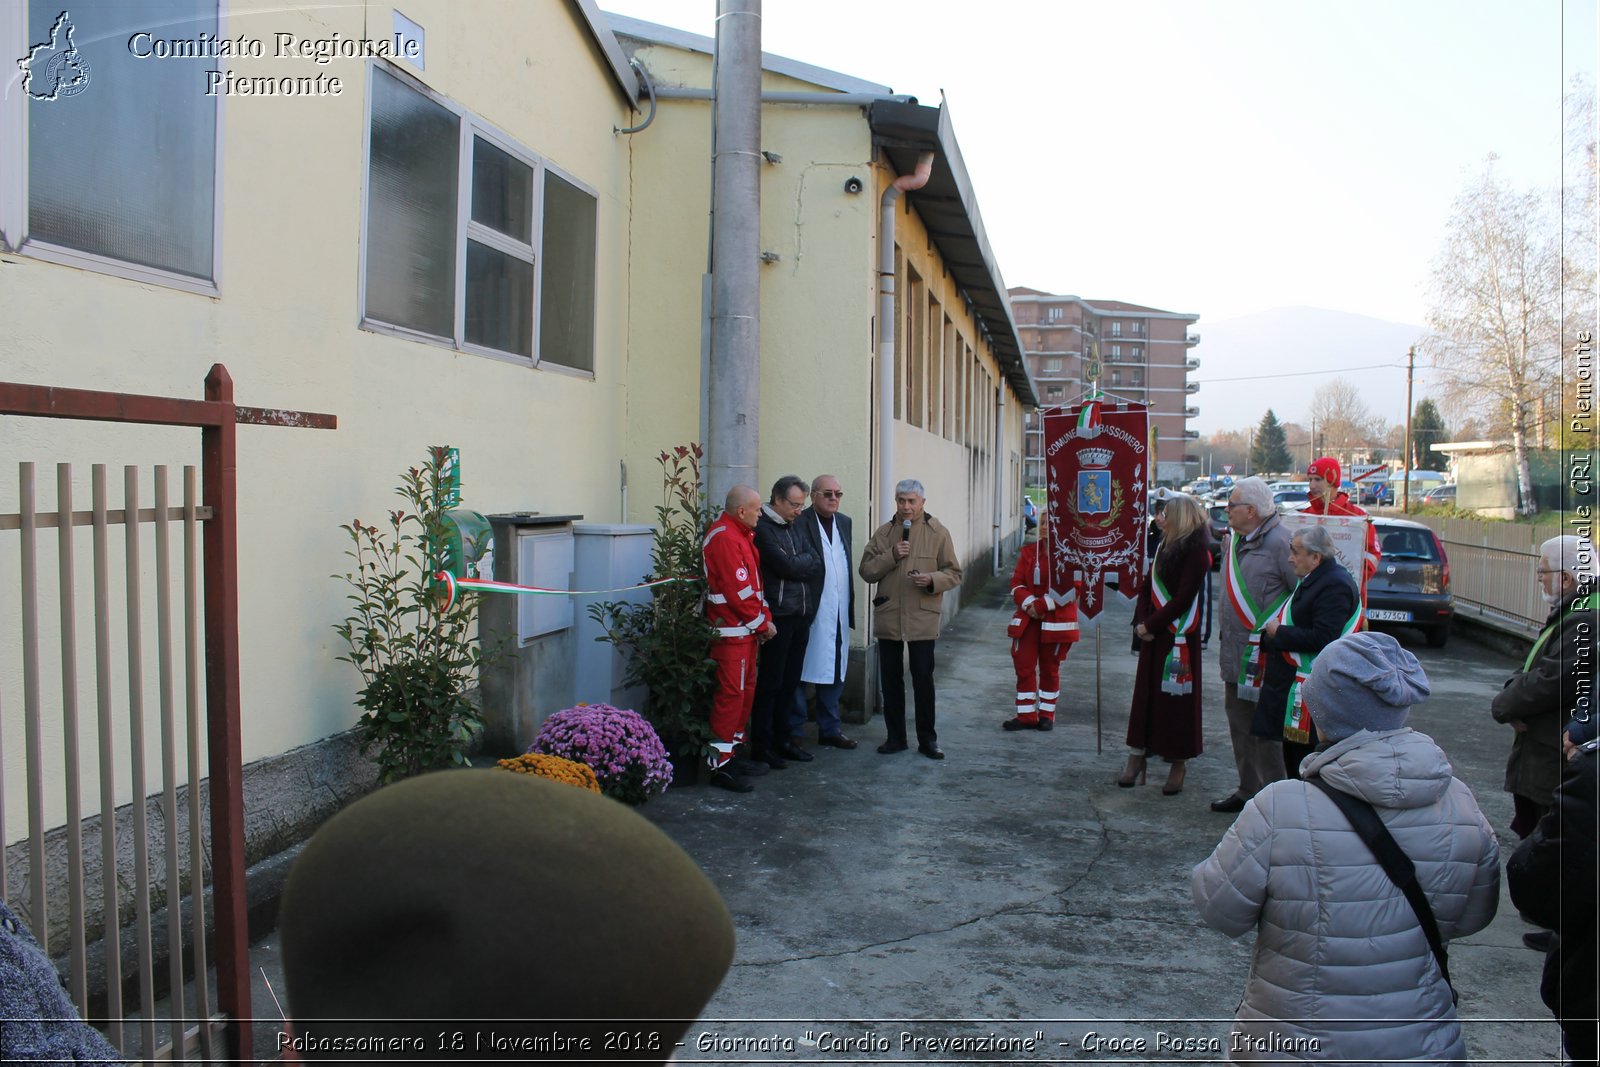
M 539 726 L 528 752 L 587 765 L 600 779 L 600 792 L 624 805 L 642 805 L 672 782 L 672 763 L 656 729 L 638 712 L 610 704 L 555 712 Z

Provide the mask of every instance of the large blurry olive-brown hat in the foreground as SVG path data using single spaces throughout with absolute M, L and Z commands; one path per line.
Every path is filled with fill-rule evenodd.
M 336 814 L 296 859 L 278 929 L 278 1045 L 301 1059 L 666 1062 L 734 942 L 717 889 L 651 822 L 498 769 Z

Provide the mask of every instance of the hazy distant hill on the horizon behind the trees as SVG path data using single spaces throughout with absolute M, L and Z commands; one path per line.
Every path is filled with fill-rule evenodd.
M 1280 422 L 1306 424 L 1312 394 L 1334 378 L 1360 389 L 1374 414 L 1403 422 L 1405 354 L 1427 333 L 1422 326 L 1326 307 L 1274 307 L 1238 318 L 1202 318 L 1192 330 L 1200 344 L 1189 355 L 1200 358 L 1200 370 L 1190 371 L 1189 381 L 1200 382 L 1200 392 L 1189 402 L 1200 408 L 1200 418 L 1189 427 L 1202 435 L 1256 426 L 1267 408 Z M 1346 370 L 1376 363 L 1394 366 Z M 1290 378 L 1294 371 L 1334 373 Z M 1430 395 L 1426 389 L 1430 373 L 1437 371 L 1419 358 L 1414 402 Z

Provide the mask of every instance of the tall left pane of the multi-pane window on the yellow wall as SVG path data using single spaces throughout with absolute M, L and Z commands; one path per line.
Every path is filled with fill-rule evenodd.
M 456 333 L 456 160 L 461 120 L 398 78 L 373 75 L 366 315 Z

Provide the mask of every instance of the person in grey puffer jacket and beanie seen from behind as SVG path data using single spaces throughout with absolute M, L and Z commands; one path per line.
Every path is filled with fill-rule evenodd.
M 1328 645 L 1306 683 L 1325 744 L 1301 774 L 1378 809 L 1448 944 L 1494 918 L 1499 846 L 1445 753 L 1405 725 L 1427 694 L 1416 657 L 1387 633 Z M 1256 931 L 1230 1062 L 1466 1059 L 1450 985 L 1416 912 L 1310 782 L 1256 793 L 1190 883 L 1208 925 L 1230 937 Z

